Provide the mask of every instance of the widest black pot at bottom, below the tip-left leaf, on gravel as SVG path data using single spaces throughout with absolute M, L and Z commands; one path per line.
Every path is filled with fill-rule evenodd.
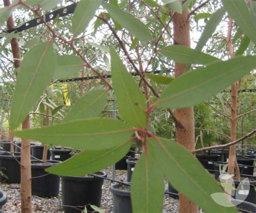
M 106 177 L 100 171 L 97 176 Z M 62 204 L 65 212 L 81 212 L 87 204 L 100 207 L 103 178 L 95 176 L 62 177 Z M 66 207 L 69 205 L 71 207 Z M 87 211 L 93 211 L 87 205 Z

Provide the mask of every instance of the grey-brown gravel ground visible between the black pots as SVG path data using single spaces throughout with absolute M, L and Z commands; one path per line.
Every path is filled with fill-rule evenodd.
M 107 173 L 107 177 L 112 178 L 111 168 L 105 169 L 105 172 Z M 116 170 L 116 180 L 126 181 L 126 171 Z M 103 185 L 102 207 L 106 212 L 113 211 L 112 193 L 109 190 L 112 184 L 112 182 L 105 180 Z M 8 195 L 8 202 L 3 206 L 2 210 L 4 212 L 21 211 L 20 184 L 0 183 L 0 189 Z M 41 198 L 33 196 L 32 202 L 34 212 L 62 212 L 61 187 L 57 197 Z M 165 195 L 163 212 L 178 212 L 178 206 L 178 200 Z

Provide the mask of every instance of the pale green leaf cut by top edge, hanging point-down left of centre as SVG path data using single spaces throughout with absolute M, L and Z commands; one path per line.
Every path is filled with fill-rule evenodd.
M 72 18 L 74 36 L 84 32 L 101 3 L 102 0 L 82 0 L 77 4 Z

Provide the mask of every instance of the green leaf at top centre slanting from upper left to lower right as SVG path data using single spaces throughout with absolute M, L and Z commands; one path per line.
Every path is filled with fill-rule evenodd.
M 133 36 L 138 38 L 142 42 L 149 42 L 152 40 L 149 28 L 142 23 L 139 19 L 132 16 L 130 13 L 124 12 L 123 10 L 113 6 L 112 4 L 103 4 L 104 8 L 109 12 L 109 15 L 114 20 L 129 31 Z

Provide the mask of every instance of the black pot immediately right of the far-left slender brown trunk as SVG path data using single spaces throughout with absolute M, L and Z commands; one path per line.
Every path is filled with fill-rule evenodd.
M 60 177 L 45 171 L 60 161 L 49 160 L 47 163 L 32 161 L 31 162 L 31 187 L 32 195 L 38 197 L 55 197 L 59 194 Z

